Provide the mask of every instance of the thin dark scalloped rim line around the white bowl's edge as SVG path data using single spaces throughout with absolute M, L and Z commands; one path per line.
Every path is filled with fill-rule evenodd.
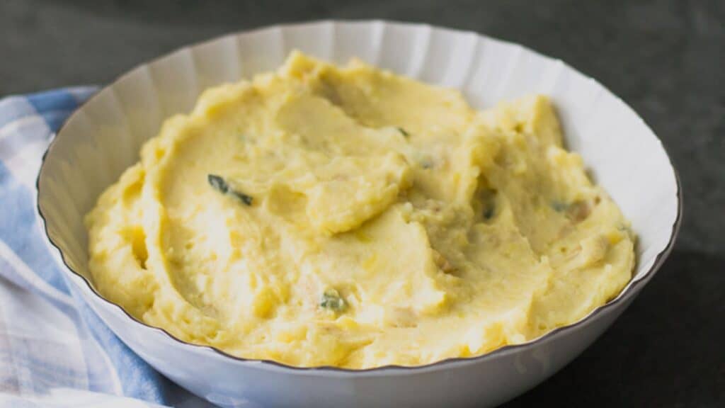
M 150 60 L 149 62 L 146 62 L 146 63 L 141 64 L 141 65 L 137 65 L 136 68 L 141 67 L 141 66 L 146 66 L 146 65 L 152 65 L 154 62 L 157 62 L 158 60 L 162 60 L 163 58 L 168 57 L 171 54 L 175 54 L 176 52 L 179 52 L 179 51 L 181 51 L 183 49 L 192 49 L 192 48 L 194 48 L 196 46 L 202 46 L 204 44 L 212 43 L 213 41 L 218 41 L 220 38 L 225 38 L 225 37 L 228 37 L 228 36 L 239 36 L 239 35 L 244 34 L 244 33 L 254 33 L 254 32 L 257 32 L 257 31 L 267 30 L 267 29 L 276 28 L 276 27 L 277 28 L 301 27 L 301 26 L 305 26 L 305 25 L 315 25 L 315 24 L 320 24 L 320 23 L 331 23 L 332 25 L 334 25 L 337 22 L 341 22 L 341 23 L 360 23 L 360 24 L 385 24 L 385 23 L 393 23 L 393 24 L 407 25 L 407 26 L 412 26 L 412 27 L 429 28 L 429 29 L 432 29 L 432 30 L 436 30 L 436 29 L 438 29 L 438 30 L 450 30 L 450 31 L 453 31 L 455 33 L 460 33 L 460 34 L 473 34 L 473 35 L 475 35 L 475 36 L 477 36 L 479 38 L 492 39 L 494 41 L 501 41 L 502 43 L 508 44 L 508 45 L 511 45 L 511 46 L 518 46 L 518 47 L 521 47 L 523 50 L 526 50 L 528 52 L 533 52 L 534 54 L 537 54 L 537 55 L 539 55 L 541 57 L 547 58 L 548 60 L 554 60 L 554 61 L 560 62 L 566 68 L 569 68 L 569 69 L 575 71 L 576 73 L 581 74 L 581 76 L 584 76 L 589 81 L 594 81 L 598 86 L 601 87 L 602 90 L 608 91 L 613 97 L 615 97 L 620 102 L 622 102 L 624 104 L 624 106 L 626 106 L 627 108 L 629 108 L 629 110 L 631 110 L 633 113 L 637 114 L 636 111 L 634 111 L 626 102 L 624 102 L 624 100 L 622 100 L 620 97 L 618 97 L 613 92 L 609 91 L 609 89 L 607 89 L 605 86 L 603 86 L 595 78 L 592 78 L 590 76 L 587 76 L 584 73 L 581 73 L 579 70 L 573 69 L 571 67 L 571 65 L 568 65 L 566 62 L 563 62 L 562 60 L 558 60 L 558 59 L 555 59 L 555 58 L 552 58 L 552 57 L 548 57 L 547 55 L 541 54 L 541 53 L 539 53 L 539 52 L 537 52 L 537 51 L 535 51 L 533 49 L 529 49 L 529 47 L 523 46 L 521 44 L 516 44 L 516 43 L 510 42 L 510 41 L 504 41 L 504 40 L 500 40 L 498 38 L 493 38 L 493 37 L 490 37 L 490 36 L 486 36 L 486 35 L 483 35 L 483 34 L 480 34 L 480 33 L 476 33 L 475 31 L 456 30 L 455 28 L 445 28 L 445 27 L 439 27 L 439 26 L 428 25 L 428 24 L 405 23 L 405 22 L 399 22 L 399 21 L 394 21 L 394 20 L 315 20 L 315 21 L 310 21 L 310 22 L 306 22 L 306 23 L 288 23 L 288 24 L 279 24 L 279 25 L 269 25 L 269 26 L 264 26 L 264 27 L 260 27 L 260 28 L 254 28 L 252 30 L 244 30 L 244 31 L 239 31 L 237 33 L 230 33 L 230 34 L 226 34 L 224 36 L 220 36 L 220 37 L 217 37 L 217 38 L 211 38 L 209 40 L 199 41 L 198 43 L 195 43 L 195 44 L 191 44 L 191 45 L 188 45 L 188 46 L 183 46 L 180 49 L 175 49 L 172 52 L 169 52 L 169 53 L 167 53 L 165 55 L 162 55 L 160 57 L 154 58 L 153 60 Z M 115 78 L 115 80 L 112 81 L 111 83 L 109 83 L 109 85 L 104 86 L 103 88 L 99 89 L 99 91 L 96 91 L 96 93 L 93 96 L 89 97 L 88 99 L 86 99 L 85 102 L 83 102 L 82 104 L 80 104 L 73 111 L 73 113 L 66 119 L 66 121 L 62 124 L 62 126 L 60 126 L 60 128 L 58 129 L 58 131 L 53 134 L 53 137 L 51 139 L 51 142 L 48 144 L 48 147 L 46 148 L 46 151 L 43 153 L 43 158 L 41 160 L 41 167 L 40 167 L 40 169 L 38 171 L 38 177 L 36 178 L 36 210 L 38 211 L 38 216 L 40 216 L 40 218 L 41 218 L 41 220 L 43 222 L 43 232 L 45 232 L 46 238 L 47 238 L 48 242 L 60 254 L 61 261 L 65 265 L 65 267 L 70 272 L 72 272 L 73 274 L 75 274 L 78 277 L 80 277 L 80 279 L 83 280 L 83 282 L 86 282 L 86 285 L 88 286 L 88 289 L 90 289 L 91 292 L 94 295 L 96 295 L 98 298 L 100 298 L 101 301 L 104 301 L 105 303 L 109 304 L 110 306 L 115 306 L 117 309 L 119 309 L 123 314 L 125 314 L 126 317 L 128 317 L 129 319 L 131 319 L 133 322 L 136 322 L 136 323 L 138 323 L 138 324 L 140 324 L 140 325 L 142 325 L 142 326 L 144 326 L 146 328 L 149 328 L 149 329 L 152 329 L 152 330 L 157 330 L 159 332 L 162 332 L 163 334 L 167 335 L 169 338 L 177 341 L 178 343 L 181 343 L 181 345 L 183 345 L 183 346 L 192 346 L 192 347 L 202 348 L 202 349 L 205 348 L 205 349 L 208 349 L 210 351 L 215 352 L 216 354 L 219 354 L 220 356 L 227 357 L 229 359 L 233 359 L 233 360 L 236 360 L 238 362 L 259 362 L 259 363 L 262 363 L 262 364 L 271 364 L 271 365 L 276 366 L 276 367 L 279 367 L 279 368 L 289 369 L 289 370 L 294 370 L 294 371 L 300 371 L 300 372 L 310 372 L 310 371 L 314 371 L 314 372 L 338 372 L 338 373 L 345 373 L 345 374 L 356 374 L 356 373 L 364 373 L 364 372 L 378 372 L 378 371 L 389 371 L 389 370 L 405 370 L 405 371 L 408 371 L 408 372 L 413 371 L 413 370 L 415 370 L 415 371 L 423 371 L 423 370 L 426 370 L 426 369 L 441 369 L 442 370 L 444 368 L 444 366 L 448 366 L 448 365 L 455 364 L 455 363 L 471 363 L 471 364 L 473 364 L 475 362 L 480 362 L 480 361 L 482 361 L 484 359 L 492 359 L 495 356 L 499 356 L 501 354 L 506 354 L 508 351 L 513 351 L 513 350 L 515 350 L 517 348 L 523 348 L 523 347 L 526 347 L 526 346 L 530 346 L 533 343 L 542 343 L 542 342 L 544 342 L 546 340 L 550 340 L 551 338 L 555 337 L 556 335 L 558 335 L 558 334 L 560 334 L 562 332 L 567 332 L 569 330 L 574 330 L 576 327 L 580 327 L 580 326 L 587 325 L 589 322 L 592 322 L 592 320 L 597 315 L 601 314 L 603 311 L 605 311 L 607 309 L 610 309 L 611 307 L 615 306 L 618 303 L 621 303 L 623 301 L 628 300 L 631 297 L 631 295 L 635 292 L 635 288 L 637 288 L 639 286 L 642 286 L 642 285 L 645 285 L 645 283 L 649 282 L 649 280 L 654 276 L 654 272 L 657 271 L 660 268 L 660 266 L 662 266 L 664 260 L 667 258 L 667 256 L 669 255 L 669 253 L 671 252 L 671 250 L 672 250 L 672 248 L 674 246 L 674 242 L 676 240 L 677 233 L 679 232 L 679 227 L 680 227 L 680 224 L 682 222 L 682 185 L 680 183 L 679 174 L 678 174 L 676 168 L 674 167 L 674 165 L 672 163 L 672 159 L 671 159 L 670 155 L 668 154 L 665 145 L 657 137 L 657 135 L 652 131 L 652 129 L 649 126 L 647 126 L 647 123 L 645 123 L 645 121 L 642 120 L 642 118 L 639 115 L 637 115 L 637 118 L 639 119 L 639 121 L 645 126 L 645 128 L 647 128 L 647 130 L 649 130 L 655 136 L 655 139 L 658 139 L 658 141 L 660 142 L 660 146 L 662 147 L 663 151 L 665 152 L 665 155 L 667 156 L 667 159 L 669 161 L 670 167 L 672 168 L 673 174 L 675 176 L 675 183 L 676 183 L 677 213 L 676 213 L 675 221 L 674 221 L 674 223 L 672 224 L 672 227 L 671 227 L 671 234 L 670 234 L 669 240 L 667 242 L 667 245 L 665 246 L 665 248 L 663 248 L 662 250 L 660 250 L 660 252 L 657 254 L 657 256 L 655 256 L 655 260 L 653 261 L 652 266 L 650 266 L 650 269 L 648 269 L 647 272 L 645 272 L 644 274 L 642 274 L 642 277 L 640 277 L 638 280 L 634 280 L 634 278 L 635 278 L 634 276 L 631 277 L 631 280 L 627 283 L 626 287 L 624 287 L 624 289 L 622 289 L 620 291 L 620 293 L 618 293 L 618 295 L 615 298 L 611 299 L 610 301 L 608 301 L 607 303 L 603 304 L 602 306 L 598 306 L 597 308 L 593 309 L 592 311 L 589 312 L 589 314 L 587 314 L 587 316 L 582 317 L 581 319 L 579 319 L 576 322 L 573 322 L 571 325 L 565 325 L 565 326 L 557 327 L 557 328 L 551 330 L 550 332 L 547 332 L 546 334 L 541 335 L 538 338 L 533 338 L 531 340 L 528 340 L 525 343 L 510 344 L 508 346 L 502 346 L 500 348 L 496 348 L 496 349 L 494 349 L 492 351 L 489 351 L 488 353 L 481 354 L 479 356 L 471 356 L 471 357 L 450 357 L 450 358 L 447 358 L 447 359 L 439 360 L 437 362 L 432 362 L 432 363 L 429 363 L 429 364 L 422 364 L 422 365 L 417 365 L 417 366 L 402 366 L 402 365 L 397 365 L 397 364 L 388 364 L 388 365 L 384 365 L 384 366 L 380 366 L 380 367 L 372 367 L 372 368 L 360 369 L 360 370 L 349 369 L 349 368 L 341 368 L 341 367 L 334 367 L 334 366 L 297 367 L 297 366 L 292 366 L 292 365 L 289 365 L 289 364 L 284 364 L 284 363 L 281 363 L 281 362 L 276 362 L 276 361 L 268 360 L 268 359 L 246 359 L 244 357 L 233 356 L 232 354 L 228 354 L 225 351 L 220 350 L 219 348 L 216 348 L 214 346 L 207 346 L 207 345 L 196 344 L 196 343 L 188 343 L 188 342 L 186 342 L 184 340 L 181 340 L 181 339 L 177 338 L 175 335 L 172 335 L 170 332 L 167 332 L 167 330 L 165 330 L 162 327 L 155 327 L 155 326 L 146 324 L 146 322 L 142 322 L 141 320 L 137 319 L 136 317 L 133 317 L 133 315 L 129 314 L 128 311 L 126 311 L 125 309 L 123 309 L 123 307 L 121 307 L 117 303 L 113 303 L 113 302 L 107 300 L 106 298 L 104 298 L 103 296 L 101 296 L 96 291 L 96 289 L 94 288 L 94 286 L 91 285 L 91 282 L 88 279 L 86 279 L 86 277 L 84 277 L 82 274 L 76 272 L 75 269 L 72 269 L 70 267 L 70 265 L 68 265 L 67 261 L 65 260 L 65 254 L 59 248 L 59 246 L 54 242 L 53 238 L 50 237 L 50 234 L 48 232 L 48 223 L 46 221 L 46 217 L 43 215 L 43 211 L 41 210 L 40 199 L 39 199 L 40 198 L 40 192 L 41 192 L 40 183 L 41 183 L 41 176 L 43 175 L 43 168 L 45 167 L 45 162 L 46 162 L 47 155 L 50 152 L 51 147 L 53 147 L 53 144 L 56 142 L 57 135 L 61 133 L 61 131 L 65 127 L 66 123 L 68 123 L 70 121 L 70 118 L 72 118 L 73 115 L 76 115 L 78 113 L 78 111 L 82 110 L 83 106 L 85 106 L 86 104 L 88 104 L 89 102 L 91 102 L 91 100 L 93 100 L 98 94 L 100 94 L 101 91 L 103 91 L 104 89 L 108 89 L 110 86 L 112 86 L 115 83 L 117 83 L 118 81 L 120 81 L 121 78 L 123 78 L 126 74 L 132 72 L 136 68 L 133 68 L 131 70 L 126 71 L 122 75 L 120 75 L 117 78 Z M 91 309 L 93 309 L 93 307 L 91 307 Z M 96 311 L 94 310 L 94 312 L 96 312 Z

